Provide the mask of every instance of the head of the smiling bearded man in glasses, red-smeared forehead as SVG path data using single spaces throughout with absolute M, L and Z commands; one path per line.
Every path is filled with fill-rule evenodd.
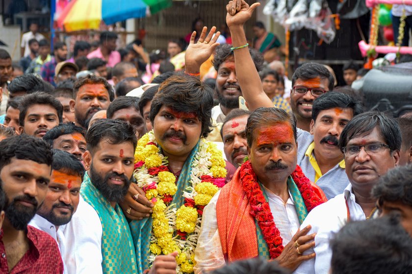
M 334 77 L 327 68 L 317 63 L 306 63 L 292 76 L 290 107 L 296 116 L 297 127 L 309 132 L 313 101 L 323 93 L 332 91 Z

